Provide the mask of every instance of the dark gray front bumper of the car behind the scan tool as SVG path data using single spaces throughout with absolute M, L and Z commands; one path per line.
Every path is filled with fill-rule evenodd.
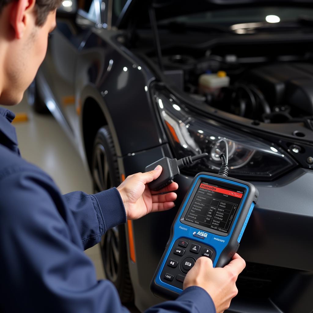
M 126 156 L 126 174 L 140 172 L 163 156 L 167 145 Z M 230 173 L 231 174 L 231 173 Z M 176 207 L 133 221 L 136 263 L 129 261 L 136 306 L 160 302 L 149 285 L 169 238 L 172 221 L 192 177 L 181 174 Z M 313 310 L 313 172 L 295 169 L 275 182 L 253 182 L 259 201 L 249 220 L 239 254 L 247 268 L 229 312 L 310 313 Z

